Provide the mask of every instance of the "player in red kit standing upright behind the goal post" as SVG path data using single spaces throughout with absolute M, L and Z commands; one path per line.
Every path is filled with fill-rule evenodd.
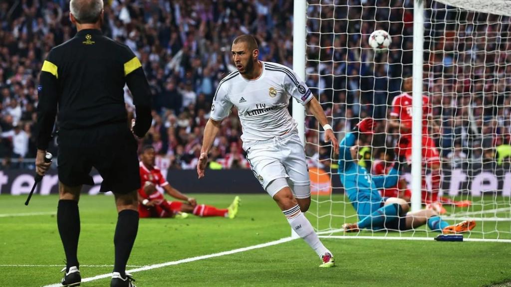
M 422 122 L 422 158 L 423 162 L 431 169 L 431 192 L 426 189 L 425 170 L 423 169 L 422 180 L 422 202 L 433 204 L 432 207 L 439 213 L 445 213 L 445 208 L 441 203 L 464 205 L 466 202 L 454 202 L 450 198 L 438 196 L 440 189 L 440 157 L 435 147 L 434 140 L 429 136 L 428 123 L 431 123 L 435 132 L 439 127 L 432 120 L 431 106 L 429 98 L 425 95 L 423 99 L 423 122 Z M 401 137 L 407 137 L 409 146 L 406 151 L 406 159 L 411 162 L 412 155 L 412 78 L 405 78 L 403 82 L 403 93 L 398 95 L 392 101 L 392 111 L 390 112 L 389 127 L 399 128 Z

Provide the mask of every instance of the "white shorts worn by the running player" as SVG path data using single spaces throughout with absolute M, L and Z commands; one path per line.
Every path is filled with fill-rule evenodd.
M 269 140 L 250 142 L 246 150 L 247 160 L 250 163 L 255 178 L 266 190 L 268 184 L 277 178 L 286 178 L 295 186 L 309 186 L 309 169 L 305 161 L 304 146 L 301 145 L 297 133 L 288 133 Z M 304 188 L 296 188 L 304 190 Z M 292 189 L 291 189 L 292 190 Z M 310 190 L 307 188 L 306 190 Z M 278 190 L 277 190 L 278 191 Z M 297 198 L 310 197 L 295 194 Z M 275 192 L 276 193 L 276 192 Z M 270 194 L 273 197 L 274 194 Z

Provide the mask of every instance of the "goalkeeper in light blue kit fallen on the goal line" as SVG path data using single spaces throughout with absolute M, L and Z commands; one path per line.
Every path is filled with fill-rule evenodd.
M 382 198 L 378 189 L 396 185 L 405 162 L 408 140 L 400 138 L 396 147 L 399 159 L 387 175 L 371 176 L 358 161 L 359 136 L 373 134 L 375 122 L 364 118 L 346 134 L 339 148 L 339 175 L 345 192 L 357 211 L 359 222 L 342 225 L 345 232 L 358 232 L 360 229 L 371 230 L 409 230 L 427 224 L 431 230 L 443 233 L 460 233 L 472 230 L 475 221 L 463 221 L 450 225 L 438 216 L 434 210 L 408 212 L 408 203 L 400 198 Z

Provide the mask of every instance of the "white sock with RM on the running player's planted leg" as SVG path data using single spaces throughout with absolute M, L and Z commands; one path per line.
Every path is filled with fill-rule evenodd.
M 296 205 L 288 210 L 282 211 L 286 216 L 291 228 L 301 237 L 309 246 L 314 249 L 316 254 L 321 257 L 324 253 L 330 252 L 324 245 L 319 241 L 318 235 L 314 232 L 311 223 L 305 217 L 304 213 L 300 211 L 300 206 Z

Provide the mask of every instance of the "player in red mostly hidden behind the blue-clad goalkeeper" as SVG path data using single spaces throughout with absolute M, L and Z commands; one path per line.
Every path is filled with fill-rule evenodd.
M 371 174 L 373 175 L 386 175 L 390 172 L 393 164 L 393 154 L 390 150 L 380 154 L 380 159 L 376 159 L 371 165 Z M 411 192 L 407 187 L 406 180 L 400 178 L 398 183 L 390 188 L 380 189 L 382 197 L 397 197 L 402 198 L 406 202 L 410 202 Z

